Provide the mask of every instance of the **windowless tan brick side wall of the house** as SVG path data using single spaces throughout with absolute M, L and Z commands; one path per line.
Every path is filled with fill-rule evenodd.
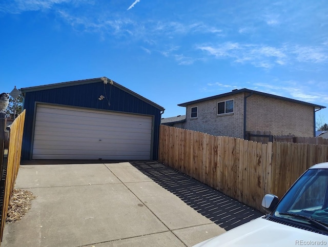
M 272 135 L 308 137 L 313 133 L 313 107 L 271 97 L 247 98 L 247 131 L 271 131 Z

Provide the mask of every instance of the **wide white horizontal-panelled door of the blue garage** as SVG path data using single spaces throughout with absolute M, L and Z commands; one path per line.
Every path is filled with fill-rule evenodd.
M 150 159 L 152 117 L 37 105 L 33 159 Z

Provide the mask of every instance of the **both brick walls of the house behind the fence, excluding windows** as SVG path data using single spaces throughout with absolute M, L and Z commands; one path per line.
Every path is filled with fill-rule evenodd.
M 234 99 L 233 114 L 217 115 L 217 102 Z M 187 107 L 186 122 L 174 127 L 211 135 L 243 138 L 244 94 L 198 102 Z M 198 107 L 197 118 L 191 108 Z M 313 137 L 313 107 L 271 97 L 247 98 L 247 131 L 271 131 L 272 135 Z

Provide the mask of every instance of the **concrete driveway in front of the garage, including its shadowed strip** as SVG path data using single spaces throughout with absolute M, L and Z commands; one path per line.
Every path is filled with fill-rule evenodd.
M 2 246 L 192 246 L 260 216 L 224 195 L 213 200 L 215 190 L 151 161 L 29 164 L 15 188 L 36 199 L 6 224 Z

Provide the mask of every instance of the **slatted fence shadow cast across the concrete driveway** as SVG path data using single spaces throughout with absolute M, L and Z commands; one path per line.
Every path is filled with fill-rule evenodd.
M 165 164 L 156 161 L 130 161 L 130 163 L 226 231 L 263 215 Z

